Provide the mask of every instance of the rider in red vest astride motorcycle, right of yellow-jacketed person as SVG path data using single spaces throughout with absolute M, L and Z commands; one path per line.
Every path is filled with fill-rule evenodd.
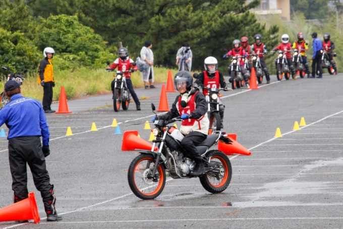
M 131 59 L 129 58 L 129 53 L 128 53 L 128 49 L 126 48 L 119 48 L 118 49 L 118 55 L 119 55 L 119 58 L 115 60 L 115 62 L 113 62 L 113 64 L 111 66 L 109 66 L 108 69 L 106 69 L 107 71 L 108 70 L 114 70 L 118 67 L 118 71 L 127 71 L 127 70 L 134 70 L 134 72 L 137 71 L 137 66 L 136 66 L 136 63 Z M 141 110 L 141 103 L 138 99 L 138 96 L 135 92 L 135 90 L 133 89 L 133 84 L 132 84 L 132 81 L 131 81 L 131 73 L 130 72 L 126 72 L 124 73 L 124 76 L 125 76 L 125 80 L 126 80 L 126 86 L 127 88 L 129 89 L 131 95 L 132 95 L 132 98 L 133 100 L 135 101 L 136 103 L 136 109 L 137 110 Z M 115 79 L 111 82 L 111 89 L 112 89 L 112 93 L 113 91 L 115 90 Z

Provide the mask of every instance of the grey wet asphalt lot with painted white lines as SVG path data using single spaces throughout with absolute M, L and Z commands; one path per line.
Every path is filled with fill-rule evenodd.
M 137 88 L 141 111 L 131 103 L 114 112 L 110 94 L 68 100 L 71 113 L 46 115 L 46 163 L 63 220 L 46 222 L 29 173 L 41 222 L 3 221 L 0 228 L 342 228 L 342 85 L 343 74 L 287 81 L 274 75 L 259 89 L 223 92 L 224 130 L 252 154 L 228 155 L 233 177 L 220 194 L 205 191 L 198 179 L 169 179 L 154 200 L 141 200 L 129 188 L 127 169 L 139 151 L 121 150 L 123 133 L 137 130 L 148 140 L 150 104 L 170 107 L 178 93 L 161 101 L 162 85 Z M 301 118 L 305 126 L 293 130 Z M 73 135 L 66 136 L 68 128 Z M 274 137 L 277 128 L 282 137 Z M 7 142 L 0 138 L 0 208 L 11 205 L 13 195 Z

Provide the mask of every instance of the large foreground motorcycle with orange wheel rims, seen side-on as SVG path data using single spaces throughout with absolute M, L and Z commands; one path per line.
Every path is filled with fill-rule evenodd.
M 151 104 L 155 113 L 155 106 Z M 166 173 L 173 179 L 190 179 L 199 177 L 200 183 L 210 193 L 221 193 L 230 184 L 232 177 L 231 162 L 220 150 L 209 150 L 219 140 L 225 143 L 232 142 L 227 135 L 215 131 L 208 135 L 206 140 L 196 146 L 202 155 L 205 164 L 205 173 L 193 176 L 191 171 L 196 164 L 194 160 L 184 156 L 184 150 L 180 144 L 183 134 L 169 124 L 182 121 L 180 117 L 172 120 L 154 120 L 155 128 L 152 134 L 155 139 L 151 151 L 142 151 L 133 159 L 129 166 L 128 182 L 132 192 L 143 200 L 154 199 L 161 194 L 166 181 Z M 158 144 L 158 151 L 155 146 Z

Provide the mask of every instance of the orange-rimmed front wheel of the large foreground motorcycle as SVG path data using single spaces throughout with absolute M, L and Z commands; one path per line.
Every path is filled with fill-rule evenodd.
M 130 164 L 128 181 L 132 192 L 143 200 L 156 198 L 164 189 L 165 170 L 159 164 L 156 170 L 157 181 L 151 178 L 155 159 L 152 155 L 138 155 Z

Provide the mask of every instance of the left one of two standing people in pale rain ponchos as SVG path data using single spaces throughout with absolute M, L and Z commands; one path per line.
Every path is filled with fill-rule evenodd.
M 144 81 L 145 89 L 156 88 L 152 83 L 154 82 L 154 54 L 151 50 L 152 43 L 150 40 L 145 41 L 141 49 L 141 60 L 148 65 L 147 68 L 141 71 L 142 80 Z M 148 84 L 150 86 L 148 86 Z

